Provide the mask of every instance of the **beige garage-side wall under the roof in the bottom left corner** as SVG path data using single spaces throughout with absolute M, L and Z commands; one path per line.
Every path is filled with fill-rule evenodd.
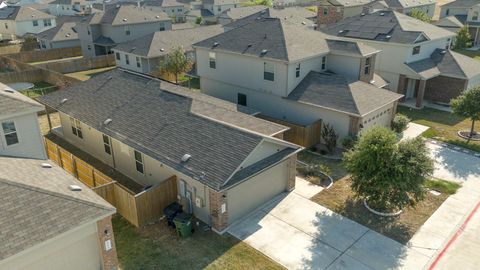
M 0 270 L 101 269 L 96 224 L 48 240 L 0 262 Z

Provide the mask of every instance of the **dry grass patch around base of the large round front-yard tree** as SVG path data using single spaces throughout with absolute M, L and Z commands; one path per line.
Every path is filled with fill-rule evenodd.
M 402 244 L 407 243 L 448 198 L 448 194 L 445 193 L 435 196 L 427 192 L 425 200 L 418 203 L 415 208 L 404 209 L 397 217 L 380 217 L 369 212 L 364 207 L 363 201 L 354 197 L 350 184 L 350 178 L 345 177 L 311 200 Z

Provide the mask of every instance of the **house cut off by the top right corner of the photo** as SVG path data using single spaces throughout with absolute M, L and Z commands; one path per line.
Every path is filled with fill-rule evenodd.
M 445 4 L 440 10 L 438 26 L 467 26 L 472 37 L 473 46 L 480 45 L 480 2 L 476 0 L 456 0 Z M 456 28 L 456 27 L 454 27 Z

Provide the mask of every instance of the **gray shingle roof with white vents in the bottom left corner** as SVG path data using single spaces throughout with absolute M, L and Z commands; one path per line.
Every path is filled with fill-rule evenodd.
M 0 157 L 0 260 L 115 213 L 62 168 L 42 168 L 44 162 Z

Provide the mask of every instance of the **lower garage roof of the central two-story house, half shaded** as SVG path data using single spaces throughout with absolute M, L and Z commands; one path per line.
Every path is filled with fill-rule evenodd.
M 368 83 L 350 82 L 341 75 L 311 71 L 287 98 L 312 106 L 363 116 L 401 97 L 402 95 Z

